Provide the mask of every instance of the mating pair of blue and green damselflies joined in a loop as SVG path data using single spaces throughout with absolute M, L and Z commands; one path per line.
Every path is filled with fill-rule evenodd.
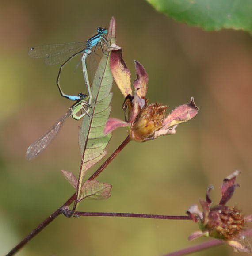
M 29 50 L 28 54 L 30 57 L 45 58 L 45 63 L 47 65 L 55 65 L 63 62 L 57 75 L 57 87 L 61 96 L 70 100 L 74 100 L 76 102 L 69 108 L 69 111 L 67 111 L 65 115 L 63 115 L 45 134 L 43 134 L 40 138 L 38 138 L 38 140 L 36 140 L 28 147 L 26 152 L 26 158 L 28 160 L 33 159 L 44 149 L 46 149 L 46 147 L 50 144 L 53 138 L 55 138 L 55 136 L 58 134 L 59 130 L 65 123 L 66 119 L 69 118 L 69 116 L 72 116 L 76 120 L 80 120 L 82 117 L 84 117 L 84 115 L 88 115 L 92 103 L 92 92 L 88 80 L 86 59 L 88 55 L 90 55 L 92 52 L 95 52 L 97 46 L 99 45 L 103 51 L 102 42 L 104 42 L 108 46 L 106 34 L 107 28 L 98 27 L 97 34 L 95 34 L 85 42 L 34 46 Z M 94 48 L 93 51 L 92 48 Z M 78 95 L 76 96 L 65 94 L 59 84 L 61 70 L 68 61 L 70 61 L 78 54 L 82 54 L 82 71 L 88 95 L 81 92 L 78 93 Z M 80 113 L 80 115 L 78 115 L 78 113 Z

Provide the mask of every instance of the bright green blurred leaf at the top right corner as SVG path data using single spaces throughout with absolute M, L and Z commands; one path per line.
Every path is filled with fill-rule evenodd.
M 252 33 L 252 0 L 147 0 L 157 11 L 205 30 L 241 29 Z

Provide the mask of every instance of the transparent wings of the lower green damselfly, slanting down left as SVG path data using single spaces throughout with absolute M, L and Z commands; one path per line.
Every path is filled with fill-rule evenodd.
M 33 144 L 31 144 L 26 152 L 26 158 L 28 160 L 37 157 L 46 147 L 50 144 L 50 142 L 56 137 L 61 127 L 63 126 L 65 120 L 72 115 L 71 109 L 65 115 L 63 115 L 44 135 L 38 138 Z

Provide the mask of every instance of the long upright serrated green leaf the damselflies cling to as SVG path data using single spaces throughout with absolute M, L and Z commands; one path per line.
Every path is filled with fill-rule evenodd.
M 115 19 L 112 18 L 108 33 L 108 43 L 115 43 Z M 112 93 L 113 76 L 111 74 L 109 57 L 103 54 L 92 84 L 92 103 L 88 115 L 83 118 L 79 132 L 79 146 L 82 162 L 78 180 L 78 195 L 80 200 L 81 187 L 85 172 L 106 155 L 106 146 L 111 134 L 104 135 L 104 127 L 109 117 Z

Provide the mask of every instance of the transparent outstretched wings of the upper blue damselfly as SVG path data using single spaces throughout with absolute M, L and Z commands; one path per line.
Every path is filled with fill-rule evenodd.
M 74 53 L 86 48 L 86 42 L 70 42 L 31 47 L 28 55 L 32 58 L 45 58 L 46 65 L 61 63 Z

